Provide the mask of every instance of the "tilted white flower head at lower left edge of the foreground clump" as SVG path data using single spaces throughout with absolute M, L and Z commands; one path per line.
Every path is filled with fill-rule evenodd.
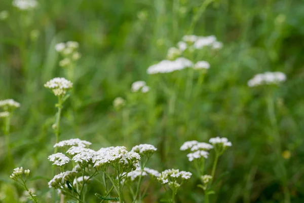
M 52 180 L 50 180 L 49 188 L 59 189 L 64 187 L 67 181 L 72 183 L 76 176 L 76 173 L 77 173 L 76 171 L 66 171 L 57 174 L 56 176 L 54 176 Z

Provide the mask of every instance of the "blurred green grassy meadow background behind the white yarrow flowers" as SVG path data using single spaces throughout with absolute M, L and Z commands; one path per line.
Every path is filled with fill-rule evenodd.
M 182 143 L 226 137 L 233 147 L 220 158 L 216 176 L 227 175 L 211 202 L 288 202 L 284 188 L 290 202 L 304 202 L 304 2 L 215 0 L 200 13 L 203 2 L 40 0 L 36 9 L 19 11 L 12 1 L 0 1 L 0 12 L 9 13 L 0 20 L 0 99 L 21 104 L 10 134 L 14 163 L 7 161 L 0 135 L 0 201 L 20 202 L 22 189 L 9 175 L 14 166 L 23 166 L 31 170 L 29 184 L 39 190 L 41 202 L 48 202 L 52 166 L 47 156 L 55 143 L 56 97 L 43 85 L 65 77 L 54 46 L 71 40 L 79 42 L 82 58 L 64 105 L 60 140 L 80 138 L 92 142 L 93 149 L 149 143 L 158 152 L 148 167 L 193 171 L 179 150 Z M 214 35 L 223 42 L 216 54 L 202 58 L 211 67 L 199 93 L 190 98 L 184 96 L 187 71 L 146 74 L 186 34 Z M 247 86 L 253 75 L 265 71 L 284 72 L 287 81 L 278 87 Z M 180 78 L 178 87 L 171 76 Z M 150 91 L 132 94 L 137 80 L 146 81 Z M 164 81 L 176 96 L 172 114 Z M 127 100 L 122 111 L 112 106 L 118 96 Z M 267 108 L 269 96 L 275 101 L 279 143 Z M 197 184 L 192 178 L 183 185 L 176 201 L 202 202 Z M 159 202 L 164 197 L 160 188 L 153 182 L 145 202 Z M 92 183 L 88 202 L 96 202 L 93 194 L 100 190 L 98 182 Z

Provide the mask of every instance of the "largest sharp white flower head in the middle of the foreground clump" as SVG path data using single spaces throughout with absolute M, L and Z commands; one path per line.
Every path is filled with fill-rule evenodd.
M 128 152 L 126 147 L 111 147 L 99 150 L 93 157 L 94 167 L 102 167 L 106 164 L 138 164 L 140 155 L 136 152 Z

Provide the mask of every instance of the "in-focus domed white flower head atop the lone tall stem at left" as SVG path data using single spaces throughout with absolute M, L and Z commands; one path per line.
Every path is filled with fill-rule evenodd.
M 63 96 L 66 94 L 67 90 L 73 87 L 73 83 L 65 78 L 54 78 L 48 81 L 44 86 L 52 89 L 56 96 Z

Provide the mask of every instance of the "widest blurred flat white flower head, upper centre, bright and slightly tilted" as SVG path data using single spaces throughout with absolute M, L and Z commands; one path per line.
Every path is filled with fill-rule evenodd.
M 147 69 L 147 74 L 158 74 L 158 73 L 171 73 L 185 69 L 186 67 L 192 67 L 193 62 L 183 57 L 179 57 L 173 61 L 162 60 L 161 62 L 151 65 Z

